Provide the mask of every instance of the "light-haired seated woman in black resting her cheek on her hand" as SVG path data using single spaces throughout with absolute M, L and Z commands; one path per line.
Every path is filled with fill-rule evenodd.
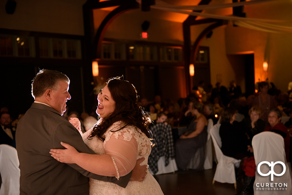
M 250 117 L 244 118 L 241 124 L 246 134 L 248 134 L 248 139 L 252 140 L 254 135 L 265 130 L 265 121 L 260 119 L 263 115 L 263 110 L 260 106 L 251 107 L 248 114 Z

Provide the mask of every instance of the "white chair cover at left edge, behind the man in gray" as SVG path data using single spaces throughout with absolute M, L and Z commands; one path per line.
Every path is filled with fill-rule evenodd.
M 0 195 L 19 194 L 20 170 L 17 151 L 12 146 L 0 145 L 0 174 L 2 184 Z

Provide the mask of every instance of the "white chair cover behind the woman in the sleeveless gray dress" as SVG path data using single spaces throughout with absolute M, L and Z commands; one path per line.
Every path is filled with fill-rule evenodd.
M 204 169 L 212 169 L 213 168 L 213 153 L 212 153 L 212 138 L 210 134 L 210 130 L 213 127 L 213 120 L 211 118 L 208 119 L 208 137 L 206 143 L 206 153 L 205 153 L 205 162 Z

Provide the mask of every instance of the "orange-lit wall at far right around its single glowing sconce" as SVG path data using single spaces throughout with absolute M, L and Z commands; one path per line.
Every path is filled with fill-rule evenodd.
M 245 6 L 250 18 L 292 20 L 292 1 L 271 1 L 265 4 Z M 279 24 L 290 25 L 291 24 Z M 292 76 L 292 34 L 267 33 L 228 25 L 225 29 L 226 53 L 254 51 L 255 82 L 266 78 L 281 91 L 287 91 Z M 268 71 L 263 71 L 263 62 L 268 62 Z

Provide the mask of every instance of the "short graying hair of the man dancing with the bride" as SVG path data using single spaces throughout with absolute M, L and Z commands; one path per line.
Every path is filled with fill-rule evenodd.
M 58 89 L 59 81 L 70 84 L 69 78 L 55 70 L 40 70 L 32 81 L 32 96 L 41 97 L 47 89 Z

